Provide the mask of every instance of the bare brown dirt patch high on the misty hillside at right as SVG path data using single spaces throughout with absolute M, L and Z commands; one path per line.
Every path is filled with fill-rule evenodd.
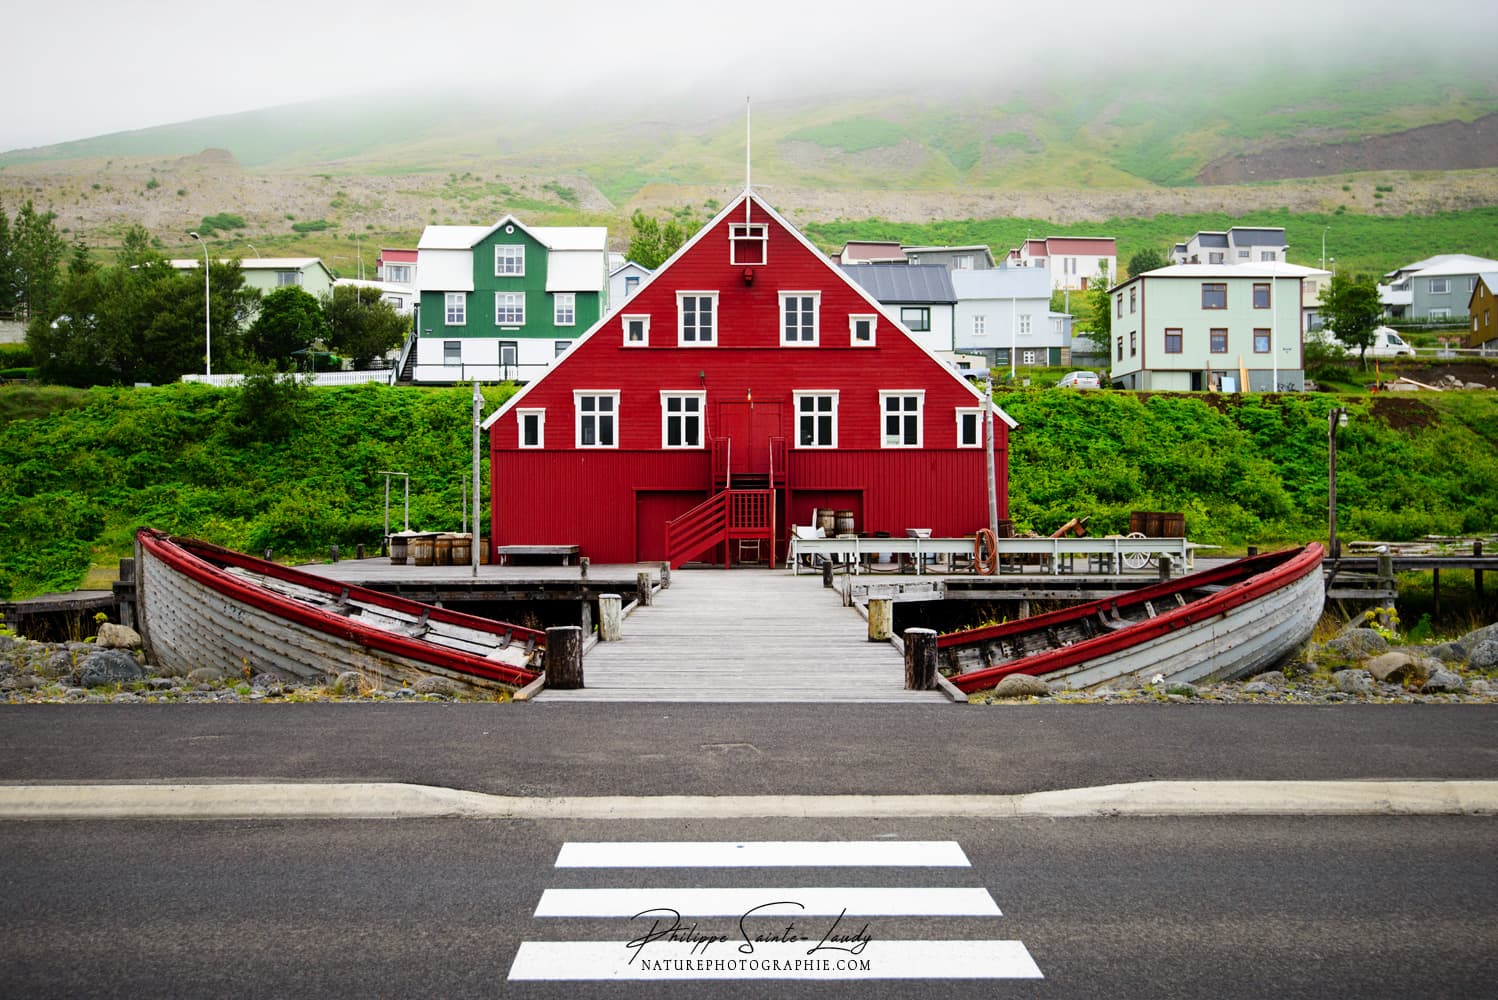
M 1443 121 L 1354 142 L 1287 145 L 1212 160 L 1201 184 L 1251 184 L 1291 177 L 1368 171 L 1470 171 L 1498 166 L 1498 114 L 1476 121 Z

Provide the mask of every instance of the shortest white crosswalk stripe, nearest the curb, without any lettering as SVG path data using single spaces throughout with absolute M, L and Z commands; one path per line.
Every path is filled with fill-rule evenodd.
M 565 843 L 557 868 L 969 868 L 953 840 L 821 840 Z

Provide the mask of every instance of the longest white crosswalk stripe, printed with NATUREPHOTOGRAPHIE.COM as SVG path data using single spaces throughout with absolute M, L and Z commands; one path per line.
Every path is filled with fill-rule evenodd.
M 875 940 L 860 954 L 809 951 L 806 943 L 719 945 L 653 942 L 521 942 L 514 981 L 596 979 L 1043 979 L 1023 942 Z

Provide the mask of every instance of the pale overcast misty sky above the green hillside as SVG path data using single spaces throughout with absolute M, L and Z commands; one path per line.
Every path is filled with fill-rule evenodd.
M 397 90 L 599 85 L 640 97 L 891 78 L 980 82 L 1173 64 L 1255 45 L 1306 60 L 1498 39 L 1494 0 L 15 0 L 0 151 Z

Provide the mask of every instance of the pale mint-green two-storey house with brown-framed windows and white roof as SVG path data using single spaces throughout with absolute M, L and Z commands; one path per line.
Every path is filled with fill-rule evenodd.
M 1305 389 L 1306 280 L 1294 263 L 1179 263 L 1109 292 L 1115 386 L 1152 391 Z

